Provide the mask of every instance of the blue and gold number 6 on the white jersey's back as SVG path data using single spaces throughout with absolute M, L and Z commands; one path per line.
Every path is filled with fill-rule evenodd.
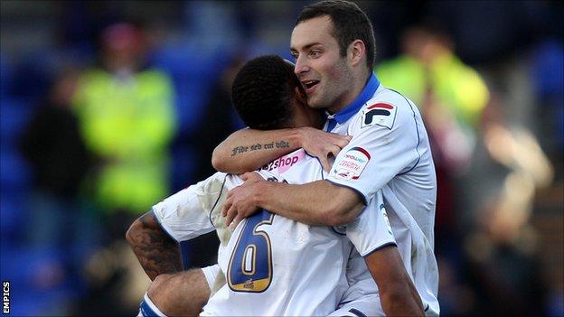
M 274 214 L 257 212 L 245 223 L 230 257 L 227 282 L 235 292 L 261 293 L 272 281 L 272 252 L 268 234 L 259 229 L 271 225 Z

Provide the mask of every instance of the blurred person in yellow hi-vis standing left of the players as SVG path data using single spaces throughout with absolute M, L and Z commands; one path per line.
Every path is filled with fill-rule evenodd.
M 112 218 L 114 238 L 168 193 L 174 89 L 166 74 L 146 65 L 147 49 L 136 25 L 108 26 L 99 65 L 81 75 L 74 96 L 84 141 L 101 158 L 93 190 Z

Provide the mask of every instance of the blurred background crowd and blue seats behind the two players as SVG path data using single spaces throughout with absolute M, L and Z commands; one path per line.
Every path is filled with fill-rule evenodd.
M 307 1 L 10 1 L 1 8 L 2 280 L 14 315 L 133 315 L 128 225 L 213 171 L 242 62 L 289 58 Z M 383 85 L 437 167 L 446 316 L 564 315 L 564 5 L 359 1 Z M 215 261 L 213 234 L 183 244 Z

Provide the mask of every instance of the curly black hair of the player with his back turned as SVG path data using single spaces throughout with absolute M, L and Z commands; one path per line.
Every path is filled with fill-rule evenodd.
M 277 55 L 260 56 L 247 61 L 233 80 L 231 102 L 250 128 L 288 127 L 296 88 L 303 89 L 291 62 Z

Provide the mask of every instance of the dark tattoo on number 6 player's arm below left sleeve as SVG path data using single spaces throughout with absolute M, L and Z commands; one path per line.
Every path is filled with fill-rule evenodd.
M 151 280 L 157 275 L 182 271 L 180 247 L 164 232 L 153 212 L 136 219 L 127 232 L 127 240 Z

